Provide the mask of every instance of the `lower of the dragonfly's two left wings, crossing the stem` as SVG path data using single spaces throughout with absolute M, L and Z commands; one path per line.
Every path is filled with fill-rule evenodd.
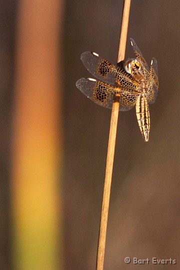
M 77 88 L 95 103 L 112 108 L 114 94 L 119 96 L 119 110 L 129 110 L 136 102 L 139 92 L 127 91 L 92 78 L 80 78 L 76 82 Z

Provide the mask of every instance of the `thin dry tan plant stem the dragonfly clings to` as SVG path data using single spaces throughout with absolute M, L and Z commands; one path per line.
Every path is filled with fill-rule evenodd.
M 124 55 L 125 55 L 125 44 L 126 44 L 126 36 L 127 36 L 129 9 L 130 9 L 130 0 L 124 0 L 117 62 L 120 62 L 121 60 L 123 60 Z M 111 112 L 111 118 L 110 118 L 110 130 L 109 130 L 109 139 L 108 139 L 108 147 L 107 147 L 104 188 L 103 188 L 103 195 L 102 195 L 101 218 L 100 218 L 99 238 L 98 238 L 98 247 L 97 247 L 96 270 L 103 270 L 105 238 L 106 238 L 106 229 L 107 229 L 107 217 L 108 217 L 108 208 L 109 208 L 110 185 L 111 185 L 111 178 L 112 178 L 112 167 L 113 167 L 113 158 L 114 158 L 118 110 L 119 110 L 119 102 L 118 100 L 114 100 L 112 104 L 112 112 Z

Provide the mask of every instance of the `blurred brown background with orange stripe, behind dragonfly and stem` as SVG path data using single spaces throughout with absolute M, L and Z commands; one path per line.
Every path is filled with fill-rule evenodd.
M 123 0 L 0 4 L 0 269 L 95 269 L 110 110 L 75 87 L 83 51 L 116 62 Z M 134 38 L 157 59 L 159 92 L 145 143 L 135 109 L 119 112 L 104 270 L 124 257 L 179 268 L 179 8 L 132 0 Z

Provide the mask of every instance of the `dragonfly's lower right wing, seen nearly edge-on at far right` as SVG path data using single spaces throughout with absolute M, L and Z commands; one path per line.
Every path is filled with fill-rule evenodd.
M 158 71 L 157 71 L 157 61 L 152 58 L 150 65 L 150 75 L 148 77 L 148 90 L 147 90 L 147 100 L 149 103 L 154 103 L 158 91 Z

